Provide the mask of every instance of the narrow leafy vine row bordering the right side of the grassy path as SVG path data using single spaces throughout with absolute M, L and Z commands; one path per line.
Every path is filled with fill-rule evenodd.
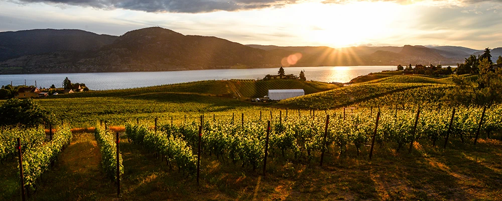
M 117 149 L 114 134 L 114 132 L 104 131 L 98 127 L 96 127 L 94 131 L 94 137 L 96 138 L 99 151 L 101 152 L 101 165 L 103 170 L 109 178 L 116 180 Z M 122 175 L 124 170 L 122 165 L 122 154 L 120 153 L 118 154 L 118 162 L 119 174 Z

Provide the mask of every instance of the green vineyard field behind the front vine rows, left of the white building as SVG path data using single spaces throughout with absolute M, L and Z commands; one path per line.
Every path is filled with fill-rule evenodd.
M 177 117 L 175 119 L 179 120 L 184 115 L 258 110 L 262 107 L 252 105 L 247 99 L 263 97 L 268 88 L 305 88 L 306 93 L 314 93 L 335 87 L 315 81 L 217 80 L 70 93 L 36 100 L 72 127 L 91 127 L 99 120 L 123 126 L 125 121 L 137 118 L 153 121 L 156 117 L 163 120 Z

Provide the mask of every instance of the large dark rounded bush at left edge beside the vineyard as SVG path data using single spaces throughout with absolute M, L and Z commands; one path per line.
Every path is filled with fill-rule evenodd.
M 31 98 L 20 100 L 12 98 L 0 106 L 0 125 L 22 124 L 35 127 L 44 122 L 51 123 L 53 118 L 48 111 L 36 104 Z

